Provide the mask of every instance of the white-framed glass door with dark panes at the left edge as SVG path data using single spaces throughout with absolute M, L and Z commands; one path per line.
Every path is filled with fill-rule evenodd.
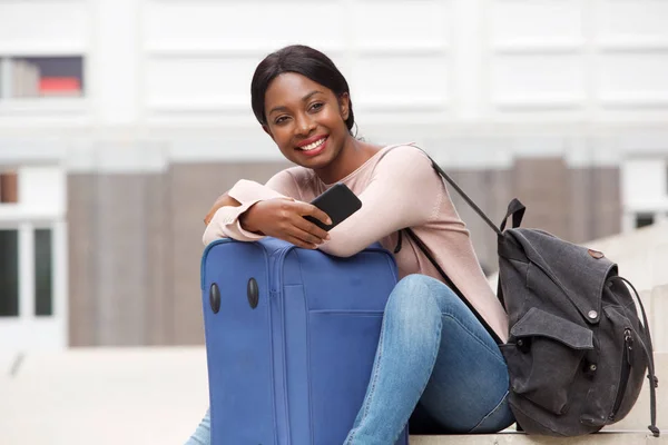
M 0 170 L 0 352 L 67 347 L 65 174 Z

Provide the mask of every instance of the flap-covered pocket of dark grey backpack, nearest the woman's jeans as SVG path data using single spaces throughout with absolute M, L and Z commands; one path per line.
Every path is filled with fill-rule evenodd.
M 553 414 L 568 409 L 568 396 L 586 350 L 590 329 L 532 307 L 501 346 L 512 392 Z

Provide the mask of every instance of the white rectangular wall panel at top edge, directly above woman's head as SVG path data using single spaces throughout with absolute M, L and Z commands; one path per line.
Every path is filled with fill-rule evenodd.
M 266 52 L 305 43 L 324 50 L 342 44 L 342 12 L 336 2 L 150 1 L 145 39 L 159 50 L 197 50 L 203 42 L 209 49 Z

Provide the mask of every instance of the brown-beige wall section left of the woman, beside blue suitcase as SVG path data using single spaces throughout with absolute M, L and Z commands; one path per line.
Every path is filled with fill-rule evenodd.
M 70 345 L 200 344 L 204 215 L 238 178 L 266 181 L 284 167 L 70 175 Z

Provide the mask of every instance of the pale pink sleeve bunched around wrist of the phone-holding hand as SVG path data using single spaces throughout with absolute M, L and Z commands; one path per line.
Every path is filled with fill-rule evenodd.
M 253 205 L 267 199 L 297 198 L 298 189 L 287 170 L 279 171 L 266 185 L 242 179 L 227 192 L 242 205 L 239 207 L 220 207 L 206 227 L 203 236 L 204 245 L 218 238 L 234 238 L 239 241 L 254 241 L 262 235 L 244 230 L 239 217 Z

